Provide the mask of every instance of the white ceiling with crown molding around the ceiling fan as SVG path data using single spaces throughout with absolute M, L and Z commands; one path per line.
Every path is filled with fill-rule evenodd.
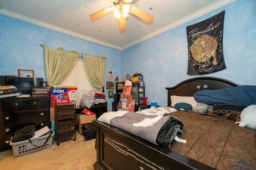
M 130 4 L 154 19 L 148 23 L 129 13 L 125 31 L 119 31 L 113 12 L 89 17 L 112 0 L 0 0 L 0 14 L 122 50 L 234 1 L 133 0 Z

